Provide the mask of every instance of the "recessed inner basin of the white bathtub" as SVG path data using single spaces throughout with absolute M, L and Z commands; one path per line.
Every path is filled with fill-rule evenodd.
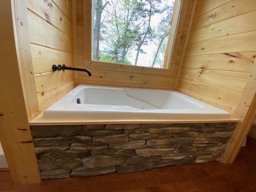
M 129 88 L 84 88 L 72 99 L 72 103 L 110 106 L 130 106 L 136 109 L 202 108 L 176 92 L 152 91 Z

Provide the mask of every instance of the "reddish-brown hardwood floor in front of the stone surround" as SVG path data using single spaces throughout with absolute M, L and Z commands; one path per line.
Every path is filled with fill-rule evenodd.
M 104 176 L 14 184 L 0 170 L 0 192 L 247 192 L 256 191 L 256 140 L 248 138 L 233 164 L 207 162 Z

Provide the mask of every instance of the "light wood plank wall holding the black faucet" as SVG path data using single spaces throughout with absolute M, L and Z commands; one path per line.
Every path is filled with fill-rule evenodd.
M 36 92 L 40 111 L 75 87 L 73 71 L 52 72 L 53 64 L 74 66 L 71 0 L 26 0 Z

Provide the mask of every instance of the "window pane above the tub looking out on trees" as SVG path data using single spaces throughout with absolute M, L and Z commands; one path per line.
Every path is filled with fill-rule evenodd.
M 163 68 L 174 1 L 93 0 L 93 60 Z

